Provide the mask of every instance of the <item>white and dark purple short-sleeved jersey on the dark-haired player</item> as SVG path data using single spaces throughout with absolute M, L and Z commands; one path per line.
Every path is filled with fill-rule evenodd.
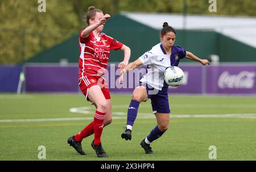
M 179 65 L 181 58 L 184 58 L 186 51 L 179 46 L 172 46 L 172 54 L 166 54 L 162 43 L 152 47 L 150 51 L 144 53 L 139 59 L 143 65 L 147 65 L 147 73 L 140 80 L 142 83 L 147 83 L 163 91 L 167 91 L 168 85 L 164 81 L 164 71 L 167 67 Z

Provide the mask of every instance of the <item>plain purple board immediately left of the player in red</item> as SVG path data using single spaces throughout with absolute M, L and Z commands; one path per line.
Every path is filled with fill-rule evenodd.
M 26 66 L 26 92 L 78 92 L 78 67 Z

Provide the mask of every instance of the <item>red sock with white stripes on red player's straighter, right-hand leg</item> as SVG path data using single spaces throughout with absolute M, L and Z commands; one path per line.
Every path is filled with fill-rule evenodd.
M 101 143 L 101 134 L 104 126 L 105 113 L 96 110 L 94 114 L 94 145 Z

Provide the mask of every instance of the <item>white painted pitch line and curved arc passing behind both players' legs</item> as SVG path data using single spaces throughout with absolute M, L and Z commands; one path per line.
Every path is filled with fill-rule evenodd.
M 93 111 L 89 111 L 94 109 L 93 106 L 85 106 L 81 108 L 71 108 L 69 111 L 72 113 L 82 113 L 82 114 L 90 114 L 94 113 Z M 125 112 L 113 112 L 113 119 L 126 119 L 127 113 Z M 151 119 L 155 118 L 155 115 L 152 113 L 139 113 L 137 115 L 138 119 Z M 170 118 L 241 118 L 241 119 L 256 119 L 256 113 L 240 113 L 240 114 L 179 114 L 179 115 L 171 115 Z M 81 117 L 81 118 L 44 118 L 44 119 L 0 119 L 0 123 L 4 122 L 45 122 L 45 121 L 80 121 L 80 120 L 92 120 L 93 117 Z

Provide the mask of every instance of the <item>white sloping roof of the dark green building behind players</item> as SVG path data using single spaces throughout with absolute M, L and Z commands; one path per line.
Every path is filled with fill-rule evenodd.
M 175 29 L 212 29 L 256 48 L 256 18 L 135 12 L 121 15 L 159 30 L 165 21 Z

